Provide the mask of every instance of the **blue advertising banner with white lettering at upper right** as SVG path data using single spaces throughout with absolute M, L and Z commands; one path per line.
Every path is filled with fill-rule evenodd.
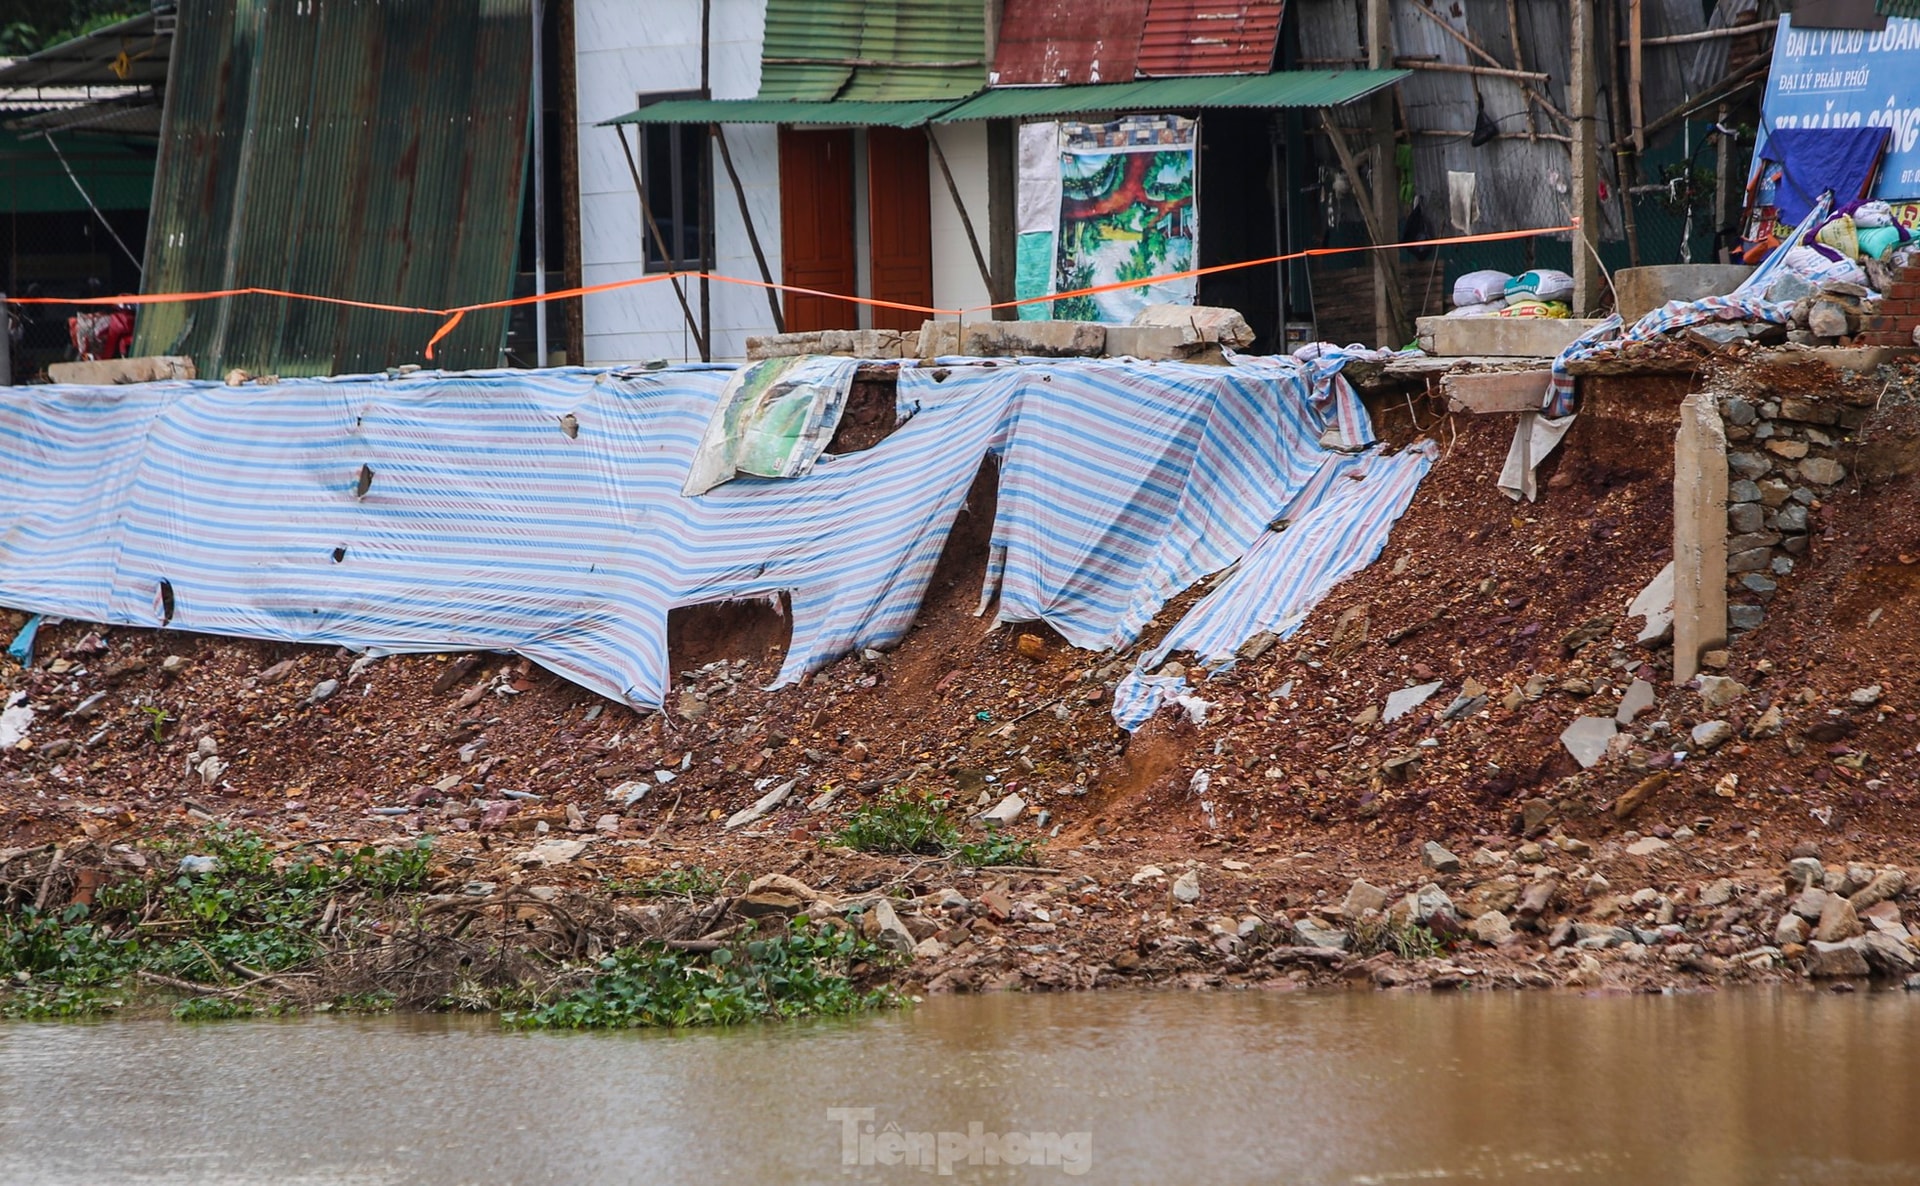
M 1793 17 L 1780 17 L 1761 125 L 1889 129 L 1872 196 L 1920 198 L 1920 21 L 1889 17 L 1884 31 L 1866 33 L 1795 29 Z M 1764 136 L 1753 155 L 1755 165 L 1766 155 Z

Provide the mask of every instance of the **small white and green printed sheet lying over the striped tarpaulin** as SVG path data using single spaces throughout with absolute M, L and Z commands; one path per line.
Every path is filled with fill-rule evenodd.
M 703 495 L 739 474 L 799 478 L 828 451 L 856 359 L 795 355 L 747 363 L 720 388 L 720 405 L 693 453 L 680 493 Z

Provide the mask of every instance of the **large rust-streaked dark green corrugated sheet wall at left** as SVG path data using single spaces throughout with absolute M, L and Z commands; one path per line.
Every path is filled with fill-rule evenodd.
M 528 0 L 182 0 L 146 292 L 396 305 L 507 297 L 532 88 Z M 505 311 L 436 347 L 493 367 Z M 419 363 L 432 319 L 284 301 L 150 305 L 140 353 L 202 374 Z

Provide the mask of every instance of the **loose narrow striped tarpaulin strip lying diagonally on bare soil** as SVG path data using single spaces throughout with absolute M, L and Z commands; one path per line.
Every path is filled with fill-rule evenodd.
M 1119 681 L 1114 720 L 1137 729 L 1187 691 L 1181 677 L 1144 674 L 1175 651 L 1190 651 L 1206 666 L 1223 668 L 1260 633 L 1292 637 L 1334 585 L 1380 555 L 1436 453 L 1432 441 L 1421 441 L 1392 457 L 1367 453 L 1331 461 L 1286 510 L 1286 530 L 1256 541 L 1240 566 Z

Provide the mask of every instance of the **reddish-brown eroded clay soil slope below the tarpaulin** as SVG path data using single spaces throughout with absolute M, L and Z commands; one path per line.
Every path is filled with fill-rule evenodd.
M 1749 691 L 1709 710 L 1693 689 L 1670 685 L 1668 652 L 1636 645 L 1640 622 L 1626 616 L 1670 558 L 1672 407 L 1686 390 L 1686 378 L 1590 382 L 1588 411 L 1542 468 L 1532 505 L 1496 489 L 1511 418 L 1444 416 L 1425 399 L 1380 411 L 1384 436 L 1430 436 L 1442 459 L 1380 560 L 1300 633 L 1231 672 L 1194 674 L 1213 702 L 1204 725 L 1169 710 L 1129 739 L 1110 704 L 1131 656 L 973 616 L 993 520 L 983 470 L 899 649 L 764 691 L 785 645 L 770 606 L 682 612 L 672 622 L 682 683 L 668 714 L 636 714 L 501 654 L 357 666 L 328 647 L 44 629 L 33 670 L 0 672 L 0 685 L 25 687 L 38 714 L 29 748 L 0 754 L 0 846 L 77 833 L 109 844 L 192 814 L 294 839 L 434 833 L 453 866 L 472 867 L 524 850 L 534 829 L 601 825 L 616 831 L 589 858 L 541 877 L 584 887 L 678 862 L 839 889 L 979 890 L 995 875 L 822 841 L 883 787 L 968 806 L 1018 791 L 1029 808 L 1010 831 L 1043 841 L 1054 873 L 1000 879 L 1081 902 L 1089 919 L 1075 942 L 1106 956 L 1150 946 L 1148 898 L 1133 881 L 1148 864 L 1167 877 L 1181 864 L 1206 867 L 1202 910 L 1267 917 L 1338 902 L 1356 875 L 1413 887 L 1432 875 L 1417 867 L 1427 841 L 1461 856 L 1494 848 L 1511 871 L 1505 850 L 1523 841 L 1578 837 L 1584 844 L 1548 854 L 1563 875 L 1599 848 L 1634 866 L 1634 885 L 1672 887 L 1722 867 L 1764 881 L 1801 844 L 1818 844 L 1828 862 L 1914 864 L 1920 411 L 1878 413 L 1859 453 L 1878 484 L 1849 478 L 1816 507 L 1809 562 L 1782 580 L 1766 626 L 1736 641 L 1716 672 Z M 1167 606 L 1146 643 L 1198 595 Z M 1634 677 L 1655 685 L 1657 704 L 1624 752 L 1582 771 L 1559 733 L 1578 716 L 1613 716 Z M 309 702 L 324 679 L 338 679 L 338 693 Z M 1388 693 L 1425 681 L 1442 683 L 1432 699 L 1396 722 L 1375 720 Z M 1849 700 L 1866 685 L 1880 687 L 1876 704 Z M 1442 720 L 1463 695 L 1486 702 Z M 1778 735 L 1674 758 L 1693 723 L 1724 718 L 1745 731 L 1770 706 L 1784 712 Z M 227 764 L 211 775 L 202 773 L 209 754 Z M 660 783 L 657 770 L 674 777 Z M 1661 770 L 1665 785 L 1622 819 L 1615 802 Z M 632 806 L 611 802 L 636 779 L 657 785 Z M 722 831 L 732 812 L 787 779 L 795 795 L 770 819 Z M 808 812 L 828 789 L 837 800 Z M 1680 833 L 1690 848 L 1665 866 L 1628 860 L 1619 854 L 1638 839 L 1628 829 Z M 1219 881 L 1229 906 L 1217 904 Z M 1165 881 L 1139 885 L 1158 887 L 1152 902 L 1165 910 Z M 1092 971 L 1098 961 L 1035 960 L 1044 967 L 1029 960 L 1027 983 L 1108 975 Z M 989 973 L 973 983 L 1006 975 Z

